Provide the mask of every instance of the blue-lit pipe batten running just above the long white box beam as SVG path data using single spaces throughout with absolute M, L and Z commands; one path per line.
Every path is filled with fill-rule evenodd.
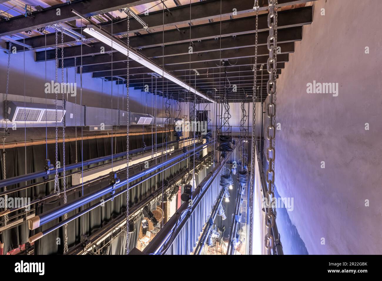
M 184 141 L 184 140 L 188 140 L 188 139 L 190 139 L 190 137 L 189 138 L 183 138 L 180 141 Z M 170 141 L 167 143 L 160 143 L 156 147 L 158 148 L 158 147 L 162 147 L 162 146 L 177 143 L 177 142 L 178 141 L 175 140 L 175 141 Z M 150 149 L 152 149 L 152 147 L 153 146 L 151 145 L 151 146 L 146 146 L 144 148 L 137 148 L 137 149 L 129 150 L 129 155 L 150 150 Z M 88 165 L 99 163 L 102 161 L 108 161 L 108 160 L 111 160 L 114 158 L 123 157 L 125 155 L 126 155 L 126 152 L 121 152 L 121 153 L 112 154 L 112 155 L 108 155 L 108 156 L 102 156 L 102 157 L 98 157 L 98 158 L 94 158 L 94 159 L 89 159 L 89 160 L 83 161 L 83 162 L 73 163 L 70 165 L 66 165 L 65 171 L 77 169 L 77 168 L 80 168 L 82 166 L 88 166 Z M 64 171 L 64 168 L 63 167 L 58 168 L 57 170 L 58 170 L 58 173 L 61 173 Z M 45 176 L 49 175 L 51 171 L 52 170 L 50 170 L 50 171 L 44 170 L 44 171 L 34 172 L 34 173 L 26 174 L 26 175 L 19 175 L 16 177 L 10 177 L 8 179 L 0 180 L 0 188 L 5 187 L 5 186 L 9 186 L 9 185 L 19 184 L 21 182 L 27 182 L 29 180 L 38 179 L 40 177 L 45 177 Z

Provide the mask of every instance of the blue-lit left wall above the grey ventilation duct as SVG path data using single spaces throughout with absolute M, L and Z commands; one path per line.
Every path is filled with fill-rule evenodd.
M 0 45 L 5 48 L 5 41 L 0 41 Z M 8 54 L 0 51 L 0 93 L 5 93 L 6 71 L 8 64 Z M 81 102 L 80 75 L 77 74 L 77 103 Z M 11 54 L 9 94 L 28 97 L 40 97 L 54 99 L 55 94 L 45 94 L 45 83 L 55 80 L 55 61 L 35 62 L 35 51 L 18 52 Z M 64 69 L 65 82 L 74 83 L 74 68 Z M 61 81 L 61 69 L 58 70 L 58 81 Z M 91 73 L 83 74 L 82 84 L 82 104 L 91 107 L 117 108 L 117 96 L 120 96 L 120 109 L 126 107 L 126 99 L 122 104 L 122 94 L 126 96 L 126 86 L 120 85 L 119 90 L 115 82 L 103 82 L 100 78 L 92 78 Z M 147 100 L 147 113 L 151 113 L 151 94 L 140 90 L 130 89 L 130 108 L 133 112 L 145 112 Z M 60 98 L 60 95 L 59 97 Z M 68 101 L 74 102 L 74 96 L 68 96 Z M 161 116 L 163 101 L 157 99 L 158 116 Z M 172 102 L 173 104 L 173 102 Z

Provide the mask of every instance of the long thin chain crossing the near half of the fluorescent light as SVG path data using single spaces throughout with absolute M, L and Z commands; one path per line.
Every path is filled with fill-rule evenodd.
M 130 125 L 130 115 L 129 115 L 129 39 L 130 31 L 130 11 L 127 13 L 127 78 L 126 78 L 126 112 L 127 112 L 127 126 L 126 126 L 126 255 L 129 254 L 129 125 Z

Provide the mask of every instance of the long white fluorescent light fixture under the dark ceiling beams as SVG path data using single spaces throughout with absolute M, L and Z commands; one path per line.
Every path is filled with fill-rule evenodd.
M 89 24 L 89 25 L 87 25 L 87 28 L 84 29 L 84 32 L 86 32 L 90 36 L 98 39 L 99 41 L 109 45 L 113 49 L 115 49 L 118 52 L 127 56 L 127 49 L 128 49 L 127 45 L 124 42 L 122 42 L 121 40 L 119 40 L 118 38 L 115 38 L 114 36 L 109 34 L 108 32 L 105 32 L 104 30 L 100 29 L 98 26 L 96 26 L 94 24 Z M 155 73 L 158 73 L 159 75 L 163 76 L 164 78 L 166 78 L 170 81 L 173 81 L 174 83 L 178 84 L 179 86 L 185 88 L 187 91 L 190 91 L 191 93 L 195 93 L 198 96 L 203 97 L 207 101 L 216 103 L 215 101 L 213 101 L 212 99 L 210 99 L 206 95 L 204 95 L 204 94 L 200 93 L 199 91 L 197 91 L 196 89 L 192 88 L 187 83 L 183 82 L 182 80 L 180 80 L 176 76 L 174 76 L 171 73 L 169 73 L 168 71 L 164 70 L 159 65 L 156 65 L 155 63 L 151 62 L 148 58 L 144 57 L 142 54 L 139 54 L 138 52 L 136 52 L 135 50 L 133 50 L 131 48 L 129 48 L 129 58 L 131 58 L 132 60 L 135 60 L 136 62 L 139 62 L 141 65 L 151 69 L 152 71 L 154 71 Z

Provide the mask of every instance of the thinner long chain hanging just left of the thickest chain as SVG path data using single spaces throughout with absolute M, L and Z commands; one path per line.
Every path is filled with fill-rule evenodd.
M 259 1 L 255 1 L 256 7 L 256 34 L 255 34 L 255 65 L 253 67 L 253 96 L 252 96 L 252 149 L 251 149 L 251 177 L 249 180 L 249 254 L 252 254 L 253 234 L 253 192 L 255 179 L 255 157 L 256 157 L 256 79 L 257 79 L 257 36 L 259 27 Z

